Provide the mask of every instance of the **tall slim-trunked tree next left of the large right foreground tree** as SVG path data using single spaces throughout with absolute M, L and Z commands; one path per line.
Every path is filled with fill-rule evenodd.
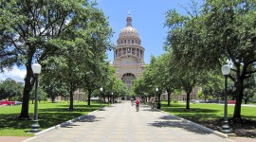
M 196 21 L 197 13 L 196 3 L 193 3 L 189 15 L 180 15 L 175 9 L 170 9 L 166 14 L 166 26 L 171 29 L 166 39 L 166 49 L 172 49 L 174 53 L 177 76 L 181 81 L 182 89 L 187 94 L 187 110 L 190 110 L 192 88 L 199 84 L 198 77 L 203 74 L 201 68 L 196 68 L 190 63 L 194 56 L 190 49 L 201 40 L 196 33 L 196 29 L 200 29 Z

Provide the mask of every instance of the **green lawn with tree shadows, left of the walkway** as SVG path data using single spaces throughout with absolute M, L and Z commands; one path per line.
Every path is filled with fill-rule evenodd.
M 106 104 L 103 104 L 106 105 Z M 68 110 L 69 103 L 49 103 L 42 102 L 38 105 L 38 119 L 42 130 L 58 125 L 67 120 L 86 115 L 90 112 L 98 110 L 99 103 L 91 102 L 91 106 L 87 106 L 87 102 L 74 103 L 74 110 Z M 31 129 L 32 120 L 18 120 L 21 105 L 0 107 L 0 136 L 32 136 L 28 133 Z M 33 117 L 34 105 L 29 104 L 29 115 Z

